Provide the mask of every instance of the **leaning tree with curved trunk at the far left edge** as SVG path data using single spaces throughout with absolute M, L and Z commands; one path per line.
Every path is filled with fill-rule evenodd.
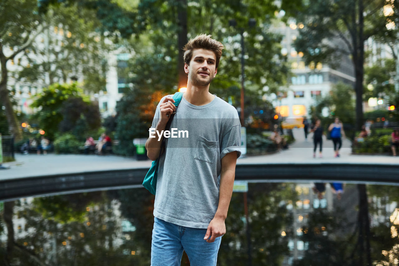
M 38 14 L 35 0 L 1 1 L 0 10 L 7 14 L 0 18 L 0 100 L 5 107 L 10 133 L 19 141 L 22 133 L 9 96 L 7 64 L 29 48 L 43 31 L 43 16 Z

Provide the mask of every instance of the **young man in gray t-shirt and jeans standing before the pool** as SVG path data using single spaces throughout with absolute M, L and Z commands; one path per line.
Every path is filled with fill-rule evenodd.
M 215 265 L 229 208 L 237 158 L 241 155 L 241 124 L 237 110 L 209 93 L 223 45 L 199 35 L 184 47 L 188 74 L 172 128 L 187 138 L 166 139 L 160 157 L 154 202 L 151 265 L 180 265 L 183 250 L 191 265 Z M 174 100 L 161 99 L 152 128 L 165 129 Z M 156 160 L 161 140 L 149 138 L 147 155 Z

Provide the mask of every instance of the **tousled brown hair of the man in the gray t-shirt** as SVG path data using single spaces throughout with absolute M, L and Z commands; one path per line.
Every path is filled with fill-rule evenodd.
M 222 50 L 224 49 L 223 44 L 217 40 L 213 40 L 211 35 L 201 34 L 196 36 L 194 39 L 190 39 L 184 46 L 184 63 L 190 65 L 191 58 L 193 56 L 194 49 L 206 49 L 211 50 L 216 55 L 215 67 L 219 66 L 219 61 L 222 56 Z

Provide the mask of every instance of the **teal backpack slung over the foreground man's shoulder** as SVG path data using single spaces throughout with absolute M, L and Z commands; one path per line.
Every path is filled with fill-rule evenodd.
M 166 124 L 165 130 L 170 129 L 170 125 L 172 124 L 173 117 L 175 116 L 175 114 L 177 112 L 177 107 L 178 107 L 180 101 L 182 100 L 182 96 L 183 96 L 182 92 L 176 92 L 173 95 L 173 99 L 175 100 L 174 105 L 176 106 L 176 111 L 174 111 L 172 113 L 172 115 L 170 115 L 170 118 L 168 120 L 168 123 Z M 143 187 L 148 189 L 148 191 L 150 191 L 151 194 L 154 194 L 154 195 L 156 192 L 156 179 L 158 177 L 159 160 L 161 158 L 162 150 L 164 149 L 164 147 L 166 149 L 165 138 L 162 139 L 161 149 L 159 151 L 158 159 L 156 159 L 155 161 L 152 161 L 150 170 L 148 170 L 148 173 L 147 173 L 146 177 L 144 177 L 144 181 L 143 181 Z

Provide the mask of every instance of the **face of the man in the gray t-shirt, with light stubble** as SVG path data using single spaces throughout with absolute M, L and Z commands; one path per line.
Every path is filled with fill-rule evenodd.
M 195 86 L 207 86 L 216 76 L 216 55 L 211 50 L 195 49 L 190 65 L 184 64 L 188 79 Z

